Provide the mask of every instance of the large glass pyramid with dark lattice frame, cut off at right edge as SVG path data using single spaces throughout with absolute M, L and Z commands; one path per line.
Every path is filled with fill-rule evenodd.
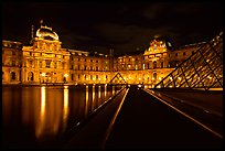
M 154 88 L 223 89 L 223 32 L 202 45 Z

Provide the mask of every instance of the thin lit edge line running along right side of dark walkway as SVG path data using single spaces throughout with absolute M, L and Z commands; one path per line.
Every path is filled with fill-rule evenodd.
M 223 139 L 223 136 L 219 134 L 218 132 L 212 130 L 211 128 L 208 128 L 207 126 L 205 126 L 204 123 L 197 121 L 196 119 L 192 118 L 191 116 L 186 115 L 185 112 L 181 111 L 180 109 L 173 107 L 172 105 L 168 104 L 167 101 L 164 101 L 163 99 L 161 99 L 160 97 L 158 97 L 157 95 L 152 94 L 151 91 L 143 89 L 144 91 L 147 91 L 148 94 L 154 96 L 157 99 L 159 99 L 160 101 L 162 101 L 163 104 L 168 105 L 169 107 L 171 107 L 172 109 L 176 110 L 178 112 L 182 114 L 183 116 L 185 116 L 186 118 L 191 119 L 192 121 L 196 122 L 197 125 L 200 125 L 201 127 L 203 127 L 204 129 L 208 130 L 210 132 L 212 132 L 213 134 L 217 136 L 218 138 Z

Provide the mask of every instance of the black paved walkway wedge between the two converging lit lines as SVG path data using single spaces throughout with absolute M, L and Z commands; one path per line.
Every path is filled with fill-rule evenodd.
M 222 149 L 219 139 L 146 91 L 130 88 L 106 149 Z

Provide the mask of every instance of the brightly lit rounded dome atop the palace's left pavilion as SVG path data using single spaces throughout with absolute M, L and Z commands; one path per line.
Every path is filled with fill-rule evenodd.
M 52 31 L 52 28 L 43 26 L 36 31 L 36 36 L 42 37 L 44 40 L 52 40 L 52 41 L 58 41 L 58 36 L 55 32 Z

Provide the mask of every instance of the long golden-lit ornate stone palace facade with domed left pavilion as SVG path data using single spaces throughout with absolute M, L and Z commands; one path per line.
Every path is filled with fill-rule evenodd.
M 147 84 L 159 83 L 204 42 L 170 48 L 153 39 L 142 52 L 114 56 L 63 48 L 52 28 L 41 25 L 32 45 L 2 41 L 2 84 Z

